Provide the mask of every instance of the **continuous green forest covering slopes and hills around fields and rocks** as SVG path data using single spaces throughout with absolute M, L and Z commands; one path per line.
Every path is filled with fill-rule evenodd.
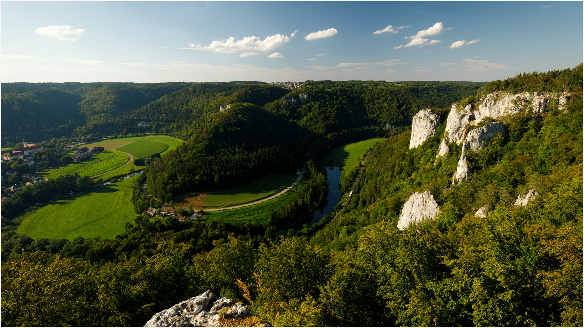
M 53 108 L 33 101 L 48 85 L 9 84 L 7 102 L 21 103 L 17 96 L 26 93 L 31 111 Z M 2 201 L 3 325 L 143 326 L 154 313 L 211 290 L 272 326 L 582 326 L 582 64 L 488 83 L 315 81 L 293 92 L 269 85 L 164 85 L 135 86 L 153 97 L 165 93 L 148 104 L 72 106 L 78 121 L 62 130 L 78 124 L 78 135 L 133 132 L 130 125 L 151 121 L 151 132 L 166 129 L 186 140 L 152 159 L 135 181 L 128 201 L 136 216 L 124 233 L 32 239 L 16 232 L 12 219 L 23 206 L 15 200 L 39 203 L 33 189 Z M 82 93 L 85 87 L 97 88 L 50 88 L 81 106 L 85 100 L 74 96 L 99 97 Z M 436 156 L 451 105 L 473 106 L 501 90 L 552 93 L 554 100 L 545 113 L 528 104 L 496 118 L 506 132 L 484 149 L 466 150 L 470 173 L 453 184 L 463 146 Z M 562 106 L 559 93 L 569 95 Z M 233 106 L 221 111 L 227 104 Z M 412 117 L 426 108 L 441 123 L 409 149 Z M 88 113 L 101 123 L 90 124 Z M 57 137 L 61 123 L 47 125 L 45 135 L 68 138 Z M 327 191 L 338 187 L 326 182 L 330 150 L 374 137 L 385 138 L 370 149 L 349 206 L 338 204 L 308 224 Z M 304 189 L 266 212 L 267 223 L 144 214 L 176 193 L 293 173 L 305 159 Z M 62 177 L 51 186 L 86 187 L 78 179 Z M 151 196 L 142 194 L 142 183 Z M 538 196 L 515 206 L 531 189 Z M 408 198 L 427 190 L 440 207 L 436 217 L 398 229 Z M 488 215 L 475 215 L 480 207 Z

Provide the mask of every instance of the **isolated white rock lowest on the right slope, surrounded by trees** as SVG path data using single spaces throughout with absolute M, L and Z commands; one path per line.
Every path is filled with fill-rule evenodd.
M 421 194 L 416 191 L 404 204 L 402 213 L 399 215 L 398 228 L 408 228 L 410 224 L 425 218 L 433 219 L 439 211 L 440 208 L 429 190 Z

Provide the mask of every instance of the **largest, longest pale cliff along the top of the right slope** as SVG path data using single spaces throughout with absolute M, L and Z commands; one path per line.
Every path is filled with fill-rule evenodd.
M 485 117 L 498 118 L 517 114 L 528 106 L 533 107 L 535 113 L 543 113 L 547 111 L 553 98 L 553 93 L 522 92 L 512 95 L 512 93 L 506 92 L 493 92 L 486 95 L 480 103 L 475 104 L 475 107 L 468 104 L 464 108 L 459 108 L 458 103 L 452 104 L 450 114 L 446 120 L 444 138 L 442 144 L 440 144 L 437 157 L 444 156 L 449 151 L 446 146 L 448 142 L 460 144 L 460 142 L 467 139 L 468 127 L 472 123 L 478 123 Z M 565 103 L 565 99 L 566 96 L 562 94 L 560 96 L 560 102 L 563 101 Z M 478 131 L 475 133 L 478 133 Z M 495 135 L 496 133 L 492 137 Z M 487 138 L 485 135 L 483 141 L 488 141 L 490 138 Z

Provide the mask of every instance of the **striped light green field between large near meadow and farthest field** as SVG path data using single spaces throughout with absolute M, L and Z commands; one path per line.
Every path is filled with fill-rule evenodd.
M 124 153 L 105 151 L 98 153 L 97 155 L 93 155 L 92 158 L 82 160 L 81 162 L 71 163 L 67 166 L 48 171 L 46 173 L 37 173 L 37 175 L 49 178 L 62 175 L 73 175 L 75 173 L 79 173 L 79 175 L 82 176 L 94 176 L 99 175 L 99 173 L 115 169 L 127 161 L 128 156 Z

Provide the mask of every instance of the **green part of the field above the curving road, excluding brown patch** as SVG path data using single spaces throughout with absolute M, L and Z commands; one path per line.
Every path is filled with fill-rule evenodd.
M 298 179 L 298 175 L 294 173 L 265 176 L 243 187 L 219 190 L 205 198 L 205 206 L 224 207 L 259 200 L 279 193 L 294 183 L 296 179 Z

